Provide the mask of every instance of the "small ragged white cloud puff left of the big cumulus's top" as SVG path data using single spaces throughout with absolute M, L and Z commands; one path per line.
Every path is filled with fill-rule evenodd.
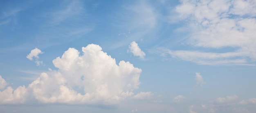
M 40 64 L 43 64 L 43 61 L 39 61 L 39 54 L 43 54 L 43 52 L 40 49 L 33 49 L 30 51 L 30 53 L 27 55 L 27 58 L 29 60 L 33 60 L 35 58 L 36 66 L 39 66 Z

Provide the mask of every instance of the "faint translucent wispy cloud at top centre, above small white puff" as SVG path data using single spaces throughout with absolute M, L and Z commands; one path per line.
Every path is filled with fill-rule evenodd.
M 150 2 L 144 0 L 135 1 L 123 4 L 121 9 L 123 11 L 112 18 L 112 25 L 121 29 L 118 35 L 124 35 L 126 38 L 112 45 L 111 49 L 127 46 L 132 41 L 157 38 L 145 37 L 148 34 L 157 32 L 160 18 L 158 11 Z M 126 31 L 129 31 L 129 33 L 126 33 Z

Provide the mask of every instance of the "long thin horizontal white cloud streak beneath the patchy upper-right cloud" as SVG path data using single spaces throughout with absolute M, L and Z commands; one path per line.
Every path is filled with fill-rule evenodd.
M 238 65 L 254 65 L 249 64 L 243 52 L 227 52 L 227 53 L 212 53 L 201 51 L 172 51 L 166 48 L 158 48 L 158 53 L 168 53 L 173 58 L 180 58 L 185 61 L 194 62 L 203 65 L 220 65 L 220 64 L 238 64 Z

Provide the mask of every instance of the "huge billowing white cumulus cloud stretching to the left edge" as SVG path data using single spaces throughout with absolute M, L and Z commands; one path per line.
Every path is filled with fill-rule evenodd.
M 130 62 L 120 61 L 89 44 L 83 54 L 70 48 L 53 60 L 58 70 L 41 73 L 27 88 L 7 87 L 0 92 L 0 103 L 24 103 L 30 99 L 41 103 L 116 104 L 133 95 L 139 88 L 141 69 Z M 40 53 L 40 52 L 39 52 Z M 36 54 L 37 56 L 38 54 Z

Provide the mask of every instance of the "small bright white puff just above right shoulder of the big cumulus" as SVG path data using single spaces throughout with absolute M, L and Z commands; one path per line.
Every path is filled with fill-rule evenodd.
M 138 44 L 135 41 L 130 43 L 127 52 L 131 52 L 133 55 L 139 56 L 140 58 L 144 58 L 144 56 L 146 55 L 143 51 L 141 51 L 141 49 L 139 48 Z

